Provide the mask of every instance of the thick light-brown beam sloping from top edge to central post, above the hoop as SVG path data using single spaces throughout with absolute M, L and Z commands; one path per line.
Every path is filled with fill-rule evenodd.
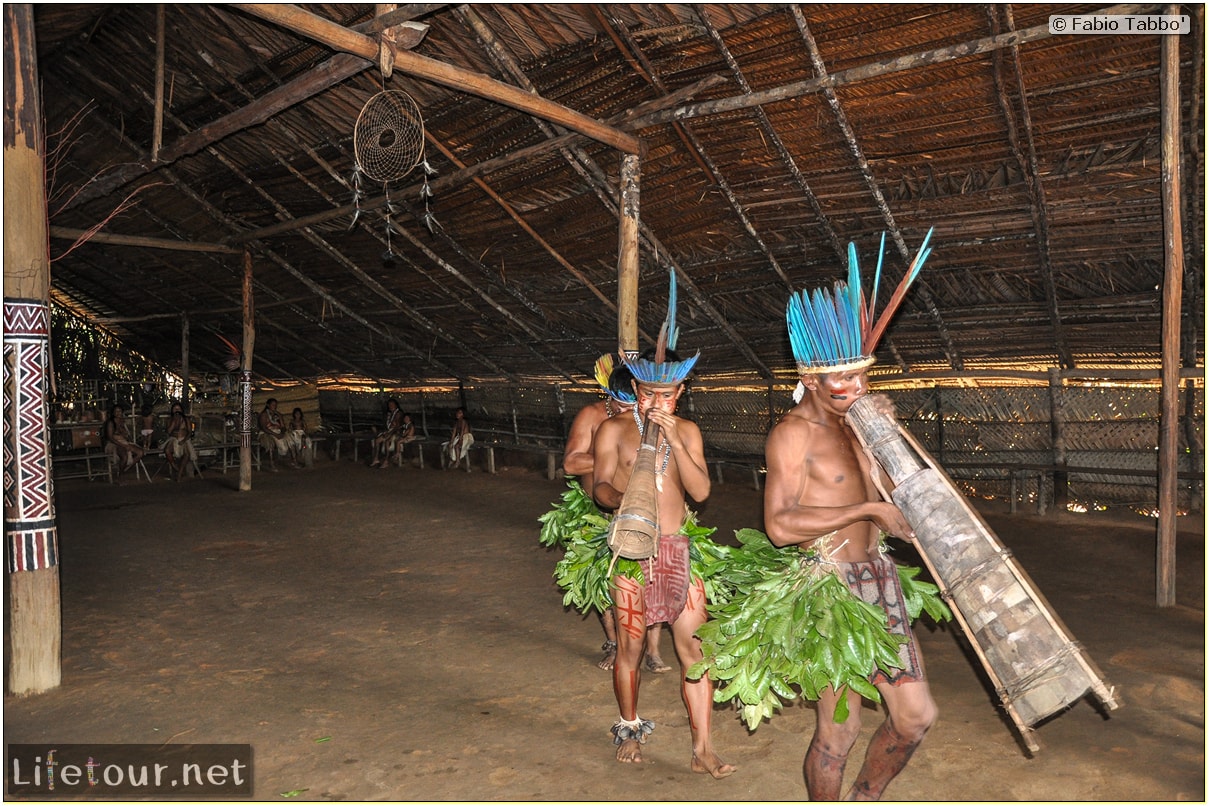
M 378 42 L 371 36 L 357 33 L 343 25 L 324 19 L 297 6 L 268 2 L 236 2 L 232 7 L 241 8 L 255 17 L 288 28 L 296 34 L 314 39 L 329 47 L 359 56 L 363 59 L 378 58 Z M 607 126 L 588 115 L 556 104 L 540 95 L 525 92 L 517 87 L 496 81 L 488 76 L 470 70 L 463 70 L 436 59 L 429 59 L 410 51 L 399 51 L 394 56 L 394 69 L 416 79 L 432 81 L 451 89 L 465 92 L 479 98 L 486 98 L 513 109 L 528 112 L 542 120 L 585 134 L 625 153 L 642 153 L 642 140 L 634 134 Z

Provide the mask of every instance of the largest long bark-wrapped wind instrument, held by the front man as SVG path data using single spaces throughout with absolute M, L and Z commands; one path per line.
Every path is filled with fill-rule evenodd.
M 1117 708 L 1113 686 L 927 451 L 869 398 L 848 421 L 893 480 L 891 499 L 1028 748 L 1039 749 L 1034 725 L 1089 691 Z

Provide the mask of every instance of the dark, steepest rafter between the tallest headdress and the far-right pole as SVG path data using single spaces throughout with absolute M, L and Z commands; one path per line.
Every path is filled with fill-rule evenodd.
M 988 6 L 987 16 L 991 30 L 997 33 L 1000 24 L 1010 31 L 1016 29 L 1012 17 L 1012 6 L 1003 5 L 1003 19 L 1000 19 L 996 8 L 1000 6 Z M 1007 64 L 1007 59 L 1011 59 Z M 995 94 L 999 98 L 1000 109 L 1003 112 L 1003 123 L 1007 127 L 1007 141 L 1012 149 L 1012 156 L 1024 174 L 1024 186 L 1029 193 L 1029 214 L 1032 216 L 1032 228 L 1036 231 L 1037 261 L 1041 273 L 1041 284 L 1046 291 L 1046 308 L 1049 312 L 1049 321 L 1054 331 L 1054 350 L 1058 353 L 1058 365 L 1064 370 L 1075 366 L 1075 358 L 1066 344 L 1066 334 L 1062 324 L 1062 312 L 1058 309 L 1058 289 L 1054 284 L 1053 261 L 1049 259 L 1049 216 L 1046 213 L 1046 189 L 1041 182 L 1041 168 L 1037 164 L 1037 149 L 1032 139 L 1032 116 L 1029 114 L 1029 97 L 1024 86 L 1024 73 L 1020 69 L 1020 48 L 1017 45 L 1005 51 L 996 51 L 991 57 L 993 71 L 995 75 Z M 1003 74 L 1010 71 L 1011 75 Z M 1012 97 L 1007 91 L 1007 82 L 1014 85 L 1016 97 L 1019 108 L 1012 104 Z M 1020 127 L 1016 124 L 1017 115 L 1020 118 Z M 1023 131 L 1022 131 L 1023 129 Z M 1023 137 L 1022 137 L 1023 134 Z

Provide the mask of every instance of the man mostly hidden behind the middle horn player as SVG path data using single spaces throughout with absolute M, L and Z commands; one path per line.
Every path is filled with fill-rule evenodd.
M 634 378 L 624 365 L 614 366 L 613 355 L 606 353 L 596 359 L 596 382 L 604 393 L 603 400 L 597 400 L 579 410 L 575 419 L 571 423 L 571 433 L 567 435 L 567 446 L 562 454 L 562 471 L 568 476 L 579 476 L 583 489 L 591 495 L 594 486 L 592 469 L 595 459 L 592 457 L 592 441 L 596 439 L 596 429 L 606 419 L 618 414 L 629 414 L 634 410 Z M 597 667 L 612 672 L 617 661 L 617 622 L 613 611 L 600 613 L 601 627 L 604 630 L 604 643 L 601 645 L 601 656 Z M 659 639 L 663 637 L 663 627 L 653 625 L 647 631 L 647 656 L 643 667 L 656 674 L 670 672 L 671 666 L 664 663 L 659 655 Z

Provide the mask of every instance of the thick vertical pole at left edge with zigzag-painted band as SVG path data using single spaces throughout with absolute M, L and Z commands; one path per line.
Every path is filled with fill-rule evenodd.
M 62 682 L 47 381 L 51 260 L 34 7 L 4 6 L 4 485 L 8 691 Z

